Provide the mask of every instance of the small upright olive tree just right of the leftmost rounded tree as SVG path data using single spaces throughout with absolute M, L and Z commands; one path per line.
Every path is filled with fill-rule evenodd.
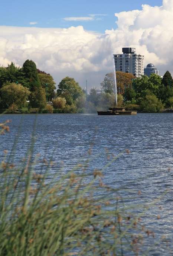
M 30 105 L 33 108 L 43 109 L 46 106 L 46 93 L 45 89 L 41 86 L 36 87 L 35 91 L 31 93 Z

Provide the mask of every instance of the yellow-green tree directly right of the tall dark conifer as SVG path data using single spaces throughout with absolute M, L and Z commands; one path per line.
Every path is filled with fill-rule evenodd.
M 44 72 L 44 71 L 40 71 Z M 52 98 L 55 96 L 54 90 L 56 89 L 55 81 L 53 80 L 53 77 L 50 76 L 50 74 L 39 73 L 38 74 L 39 81 L 41 83 L 42 88 L 45 90 L 47 89 L 47 95 L 48 95 L 48 101 L 52 101 Z

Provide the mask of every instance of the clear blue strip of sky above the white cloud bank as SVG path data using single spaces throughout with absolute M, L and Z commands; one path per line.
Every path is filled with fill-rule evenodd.
M 0 25 L 36 26 L 44 28 L 69 28 L 84 26 L 84 29 L 104 32 L 116 28 L 114 13 L 141 9 L 142 4 L 161 6 L 162 0 L 9 0 L 2 1 Z M 96 15 L 96 16 L 93 16 Z M 84 17 L 74 21 L 69 17 Z M 68 18 L 68 19 L 64 19 Z M 30 22 L 37 22 L 30 24 Z

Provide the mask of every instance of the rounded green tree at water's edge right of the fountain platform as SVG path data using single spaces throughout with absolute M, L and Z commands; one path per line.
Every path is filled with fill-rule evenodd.
M 147 90 L 146 96 L 140 101 L 140 109 L 143 112 L 160 112 L 163 108 L 161 100 Z

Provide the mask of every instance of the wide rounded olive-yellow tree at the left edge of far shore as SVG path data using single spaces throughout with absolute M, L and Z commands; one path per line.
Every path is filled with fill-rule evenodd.
M 8 107 L 12 104 L 22 108 L 26 104 L 30 92 L 28 88 L 23 87 L 22 84 L 8 83 L 3 86 L 1 89 L 1 98 L 5 105 Z

